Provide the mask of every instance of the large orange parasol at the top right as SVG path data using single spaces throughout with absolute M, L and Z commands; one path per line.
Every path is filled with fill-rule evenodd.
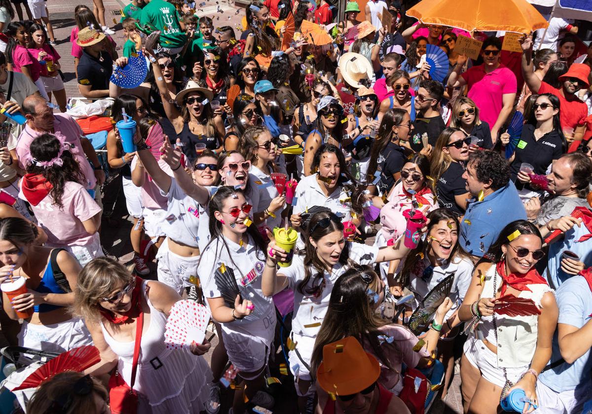
M 469 32 L 505 30 L 530 33 L 549 23 L 526 0 L 423 0 L 407 15 L 425 24 L 440 24 Z

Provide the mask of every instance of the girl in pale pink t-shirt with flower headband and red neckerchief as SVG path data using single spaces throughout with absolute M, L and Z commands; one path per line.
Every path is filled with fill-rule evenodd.
M 46 245 L 65 248 L 82 266 L 102 257 L 101 208 L 81 185 L 84 176 L 70 144 L 42 134 L 31 142 L 30 150 L 31 163 L 18 196 L 31 204 L 47 233 Z

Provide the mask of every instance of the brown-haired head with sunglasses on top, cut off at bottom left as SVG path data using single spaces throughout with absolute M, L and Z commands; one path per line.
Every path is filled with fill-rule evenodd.
M 59 412 L 62 414 L 96 414 L 98 409 L 93 394 L 97 394 L 102 400 L 107 401 L 107 389 L 92 378 L 92 390 L 88 394 L 78 394 L 73 392 L 73 387 L 77 381 L 85 377 L 83 373 L 75 371 L 66 371 L 54 375 L 49 380 L 41 384 L 33 397 L 27 404 L 27 413 L 44 414 L 49 412 Z M 64 399 L 67 397 L 67 399 Z M 60 405 L 64 400 L 65 405 Z M 54 405 L 57 405 L 54 406 Z

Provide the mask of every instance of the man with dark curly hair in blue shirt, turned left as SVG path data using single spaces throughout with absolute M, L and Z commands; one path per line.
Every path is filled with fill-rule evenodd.
M 526 220 L 526 211 L 510 181 L 510 166 L 499 153 L 472 153 L 462 177 L 474 199 L 466 208 L 459 241 L 466 253 L 483 257 L 507 224 Z

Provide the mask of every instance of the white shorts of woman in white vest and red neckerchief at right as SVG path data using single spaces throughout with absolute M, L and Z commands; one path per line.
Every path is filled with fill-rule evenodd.
M 506 384 L 506 377 L 502 368 L 497 367 L 497 354 L 494 354 L 485 344 L 474 336 L 466 339 L 464 354 L 472 366 L 481 372 L 481 376 L 490 383 L 503 388 Z M 519 368 L 506 368 L 507 379 L 516 383 L 528 370 L 529 366 Z

